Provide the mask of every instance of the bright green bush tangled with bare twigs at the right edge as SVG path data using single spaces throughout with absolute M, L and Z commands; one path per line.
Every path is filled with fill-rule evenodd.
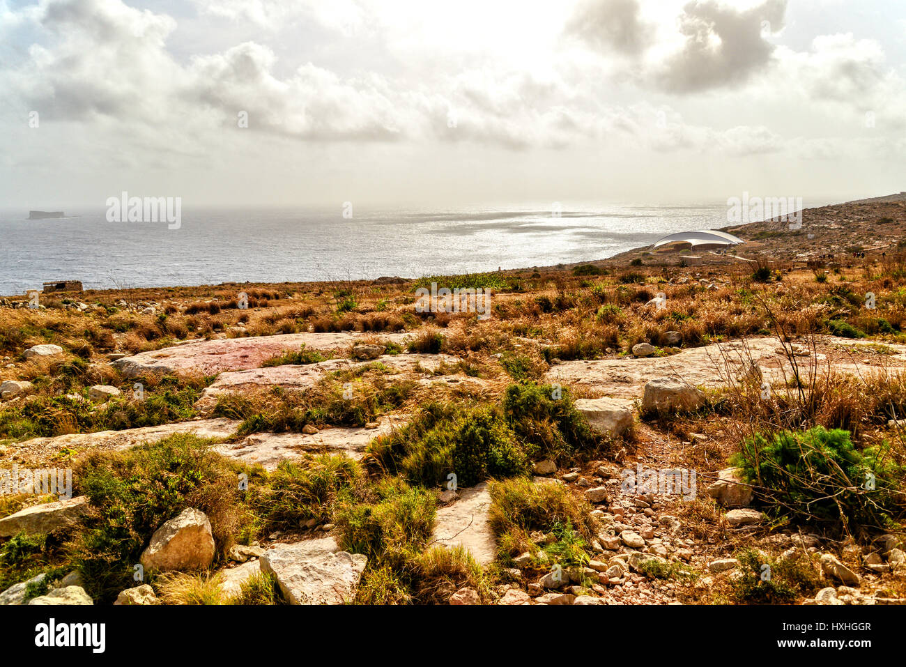
M 860 452 L 847 430 L 759 433 L 731 462 L 769 505 L 804 521 L 862 531 L 892 527 L 902 514 L 902 469 L 889 446 L 882 442 Z

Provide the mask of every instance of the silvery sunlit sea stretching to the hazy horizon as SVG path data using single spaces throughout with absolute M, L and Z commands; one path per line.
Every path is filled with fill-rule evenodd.
M 454 212 L 192 210 L 166 222 L 108 222 L 106 209 L 27 220 L 0 211 L 0 295 L 45 281 L 86 288 L 419 277 L 602 259 L 687 229 L 727 225 L 727 207 L 610 206 Z

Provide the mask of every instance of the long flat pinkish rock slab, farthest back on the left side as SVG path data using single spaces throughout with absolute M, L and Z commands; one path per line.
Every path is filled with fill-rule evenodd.
M 383 333 L 381 341 L 401 343 L 409 334 Z M 374 333 L 282 333 L 274 336 L 226 338 L 219 341 L 190 341 L 123 357 L 115 362 L 127 377 L 146 372 L 218 372 L 258 368 L 268 359 L 286 352 L 298 352 L 302 345 L 312 350 L 334 350 L 352 347 Z

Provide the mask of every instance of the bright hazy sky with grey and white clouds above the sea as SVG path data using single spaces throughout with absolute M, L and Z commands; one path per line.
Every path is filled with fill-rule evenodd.
M 901 0 L 0 0 L 0 208 L 906 190 Z

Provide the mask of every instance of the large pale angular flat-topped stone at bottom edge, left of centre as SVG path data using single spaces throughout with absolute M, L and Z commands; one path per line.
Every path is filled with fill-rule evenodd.
M 290 604 L 349 604 L 368 558 L 341 551 L 333 537 L 278 544 L 261 556 Z

